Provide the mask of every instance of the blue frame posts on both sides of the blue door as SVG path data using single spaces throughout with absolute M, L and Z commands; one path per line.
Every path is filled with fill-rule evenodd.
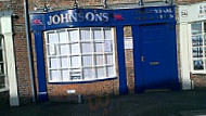
M 163 24 L 163 23 L 160 23 Z M 168 89 L 171 90 L 179 90 L 179 77 L 178 77 L 178 66 L 177 66 L 177 43 L 176 43 L 176 23 L 164 23 L 168 27 L 168 38 L 167 41 L 170 43 L 168 44 L 168 52 L 171 53 L 173 57 L 171 60 L 172 66 L 170 66 L 170 79 L 172 80 L 171 86 Z M 146 25 L 157 25 L 157 24 L 144 24 Z M 141 35 L 140 35 L 140 26 L 144 25 L 132 25 L 131 31 L 133 37 L 133 64 L 134 64 L 134 91 L 136 93 L 142 93 L 145 90 L 145 85 L 143 80 L 143 68 L 141 63 Z

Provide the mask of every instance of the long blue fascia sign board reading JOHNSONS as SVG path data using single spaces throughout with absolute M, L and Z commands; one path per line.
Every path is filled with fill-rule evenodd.
M 99 16 L 96 17 L 95 15 Z M 68 9 L 47 13 L 31 13 L 29 16 L 31 25 L 30 30 L 50 30 L 69 27 L 141 25 L 165 22 L 169 23 L 175 21 L 175 7 L 165 5 L 114 10 Z M 69 16 L 73 18 L 65 18 Z

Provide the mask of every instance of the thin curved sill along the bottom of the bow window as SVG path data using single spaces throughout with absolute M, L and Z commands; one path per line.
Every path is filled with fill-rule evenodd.
M 88 82 L 96 82 L 96 81 L 105 81 L 105 80 L 113 80 L 117 79 L 117 77 L 110 77 L 110 78 L 99 78 L 99 79 L 91 79 L 91 80 L 74 80 L 74 81 L 49 81 L 51 85 L 64 85 L 64 83 L 88 83 Z

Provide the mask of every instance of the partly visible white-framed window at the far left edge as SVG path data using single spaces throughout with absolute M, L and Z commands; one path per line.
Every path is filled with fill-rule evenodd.
M 0 36 L 0 91 L 7 90 L 8 79 L 5 75 L 5 57 L 4 57 L 3 37 Z

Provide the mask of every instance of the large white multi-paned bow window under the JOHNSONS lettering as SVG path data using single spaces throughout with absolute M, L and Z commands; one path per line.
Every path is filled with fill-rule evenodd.
M 66 28 L 46 35 L 50 82 L 116 77 L 113 28 Z

